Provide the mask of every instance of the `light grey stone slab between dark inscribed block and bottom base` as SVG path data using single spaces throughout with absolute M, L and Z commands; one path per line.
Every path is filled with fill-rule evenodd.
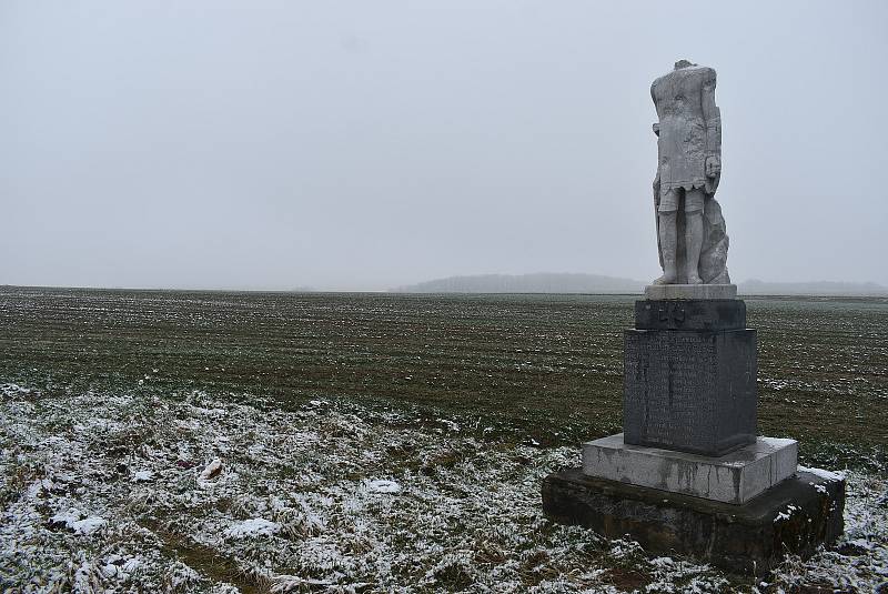
M 798 443 L 775 437 L 758 437 L 720 457 L 629 445 L 623 433 L 583 444 L 587 476 L 735 505 L 791 476 L 797 460 Z

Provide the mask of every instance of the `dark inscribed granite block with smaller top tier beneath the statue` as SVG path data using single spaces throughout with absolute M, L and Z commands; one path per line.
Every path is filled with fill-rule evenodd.
M 756 441 L 756 332 L 743 301 L 637 301 L 625 344 L 626 443 L 719 456 Z

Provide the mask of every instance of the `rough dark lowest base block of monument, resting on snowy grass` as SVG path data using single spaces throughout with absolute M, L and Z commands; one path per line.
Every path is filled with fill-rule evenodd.
M 607 538 L 626 535 L 654 554 L 678 553 L 733 573 L 763 574 L 786 554 L 808 557 L 841 535 L 845 481 L 799 472 L 760 496 L 731 505 L 593 479 L 581 469 L 543 480 L 549 520 Z

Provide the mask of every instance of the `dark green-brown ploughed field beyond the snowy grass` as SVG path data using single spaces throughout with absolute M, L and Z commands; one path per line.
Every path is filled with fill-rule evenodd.
M 619 430 L 632 296 L 0 289 L 0 380 L 315 397 L 446 413 L 564 445 Z M 888 300 L 747 300 L 759 432 L 806 463 L 882 469 Z

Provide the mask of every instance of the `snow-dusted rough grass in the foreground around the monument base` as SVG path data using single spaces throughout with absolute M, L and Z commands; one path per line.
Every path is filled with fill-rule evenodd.
M 3 384 L 0 590 L 870 592 L 888 580 L 884 475 L 847 473 L 838 546 L 756 582 L 551 524 L 539 480 L 577 463 L 577 447 L 339 401 L 285 411 Z

